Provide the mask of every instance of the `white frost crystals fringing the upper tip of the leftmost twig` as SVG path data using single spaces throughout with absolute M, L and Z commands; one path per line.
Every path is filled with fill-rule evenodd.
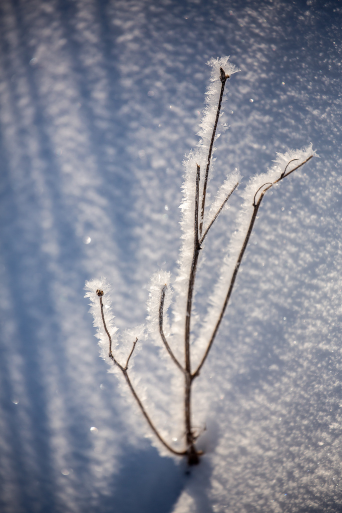
M 102 296 L 103 301 L 103 312 L 105 316 L 106 326 L 109 331 L 109 334 L 112 339 L 112 348 L 117 344 L 117 335 L 116 332 L 118 328 L 115 326 L 113 320 L 114 315 L 111 310 L 111 301 L 110 301 L 110 285 L 108 284 L 106 278 L 102 277 L 97 280 L 91 280 L 86 282 L 85 290 L 87 291 L 85 294 L 85 298 L 90 298 L 90 313 L 92 313 L 94 317 L 93 324 L 95 328 L 97 328 L 97 332 L 95 337 L 99 339 L 98 345 L 100 346 L 100 356 L 106 360 L 107 363 L 113 365 L 111 359 L 108 357 L 108 349 L 109 349 L 109 341 L 107 333 L 104 329 L 104 325 L 102 322 L 101 309 L 99 305 L 98 295 L 96 294 L 96 290 L 103 290 L 104 295 Z

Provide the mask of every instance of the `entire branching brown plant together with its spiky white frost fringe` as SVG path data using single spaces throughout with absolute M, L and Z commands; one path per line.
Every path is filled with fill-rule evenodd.
M 196 447 L 198 433 L 193 427 L 192 385 L 199 377 L 224 317 L 260 204 L 268 190 L 309 162 L 315 155 L 311 145 L 285 154 L 278 153 L 273 167 L 264 174 L 254 176 L 243 190 L 244 202 L 236 219 L 236 230 L 227 248 L 219 279 L 209 298 L 207 315 L 200 326 L 196 344 L 193 344 L 190 340 L 194 324 L 193 298 L 200 250 L 205 249 L 209 230 L 220 212 L 226 208 L 230 196 L 239 184 L 238 172 L 230 173 L 210 207 L 206 208 L 209 171 L 213 160 L 215 138 L 219 135 L 216 134 L 216 130 L 224 103 L 225 85 L 228 78 L 238 71 L 229 62 L 229 57 L 212 58 L 208 64 L 212 67 L 212 73 L 206 92 L 206 108 L 198 133 L 200 141 L 197 149 L 190 152 L 184 163 L 186 170 L 184 195 L 180 205 L 183 244 L 178 260 L 178 275 L 173 285 L 175 301 L 172 321 L 169 321 L 167 315 L 173 295 L 170 274 L 160 271 L 153 275 L 151 280 L 147 325 L 126 331 L 124 339 L 131 346 L 128 352 L 127 349 L 126 353 L 120 352 L 123 349 L 116 349 L 117 328 L 113 324 L 106 280 L 93 280 L 87 282 L 85 287 L 86 297 L 91 299 L 90 311 L 94 315 L 94 326 L 97 327 L 96 337 L 99 339 L 101 356 L 123 374 L 136 403 L 159 441 L 173 454 L 187 456 L 190 465 L 197 464 L 202 455 L 202 451 Z M 223 125 L 220 126 L 221 130 L 225 128 Z M 182 450 L 172 447 L 160 435 L 160 430 L 148 414 L 149 405 L 144 405 L 140 400 L 129 378 L 128 367 L 136 344 L 138 340 L 144 340 L 146 337 L 151 337 L 157 343 L 163 344 L 171 361 L 178 369 L 180 379 L 184 381 L 184 402 L 179 405 L 183 411 L 185 425 L 185 444 Z M 125 346 L 121 344 L 118 347 L 123 345 Z M 192 366 L 193 361 L 196 361 L 194 366 Z

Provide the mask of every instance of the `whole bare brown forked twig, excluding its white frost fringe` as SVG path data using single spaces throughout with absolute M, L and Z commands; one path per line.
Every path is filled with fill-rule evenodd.
M 224 62 L 228 62 L 228 60 L 224 61 Z M 231 69 L 233 69 L 233 68 L 231 68 Z M 105 332 L 107 334 L 108 341 L 109 341 L 109 349 L 108 349 L 109 358 L 113 362 L 113 365 L 116 365 L 120 369 L 120 371 L 123 373 L 124 378 L 125 378 L 125 380 L 127 382 L 127 385 L 128 385 L 128 387 L 129 387 L 129 389 L 130 389 L 130 391 L 132 393 L 132 396 L 134 397 L 136 403 L 138 404 L 138 406 L 140 408 L 140 411 L 143 413 L 143 416 L 145 417 L 148 425 L 150 426 L 150 428 L 152 429 L 153 433 L 158 438 L 160 443 L 162 443 L 163 446 L 166 447 L 174 455 L 187 456 L 188 464 L 189 465 L 197 464 L 199 462 L 200 455 L 202 455 L 202 451 L 199 451 L 199 450 L 196 449 L 195 443 L 196 443 L 196 440 L 198 438 L 198 432 L 196 432 L 196 430 L 193 428 L 192 422 L 191 422 L 191 391 L 192 391 L 192 384 L 193 384 L 194 379 L 197 376 L 199 376 L 200 370 L 202 369 L 203 365 L 206 362 L 206 359 L 208 358 L 208 354 L 209 354 L 210 349 L 211 349 L 211 347 L 213 345 L 213 342 L 215 340 L 215 337 L 216 337 L 216 334 L 218 332 L 219 326 L 220 326 L 220 324 L 221 324 L 221 322 L 223 320 L 223 317 L 224 317 L 224 314 L 225 314 L 228 302 L 230 300 L 230 297 L 231 297 L 231 294 L 232 294 L 232 291 L 233 291 L 233 288 L 234 288 L 234 285 L 235 285 L 235 281 L 236 281 L 236 277 L 237 277 L 237 273 L 238 273 L 240 264 L 242 263 L 242 260 L 243 260 L 243 257 L 244 257 L 244 254 L 245 254 L 245 251 L 246 251 L 246 248 L 247 248 L 247 245 L 248 245 L 251 233 L 252 233 L 252 230 L 254 228 L 254 223 L 255 223 L 255 220 L 257 218 L 257 213 L 258 213 L 260 204 L 263 201 L 266 192 L 271 187 L 273 187 L 273 185 L 278 183 L 280 180 L 283 180 L 286 176 L 288 176 L 289 174 L 293 173 L 296 169 L 298 169 L 301 166 L 303 166 L 304 164 L 306 164 L 310 159 L 312 159 L 312 156 L 313 156 L 311 154 L 304 162 L 301 162 L 300 164 L 295 165 L 295 167 L 293 169 L 290 169 L 290 171 L 288 171 L 290 164 L 295 162 L 295 161 L 298 161 L 299 159 L 292 159 L 292 160 L 290 160 L 287 163 L 284 171 L 281 172 L 281 174 L 280 174 L 280 176 L 279 176 L 279 178 L 277 180 L 275 180 L 274 182 L 264 183 L 255 192 L 254 198 L 253 198 L 253 203 L 252 203 L 252 206 L 253 206 L 252 216 L 251 216 L 251 219 L 249 221 L 247 233 L 245 235 L 242 247 L 241 247 L 241 249 L 240 249 L 240 251 L 238 253 L 238 257 L 237 257 L 237 261 L 235 263 L 235 267 L 233 269 L 232 277 L 230 278 L 230 282 L 229 282 L 229 286 L 228 286 L 228 291 L 227 291 L 227 294 L 226 294 L 226 297 L 225 297 L 225 300 L 224 300 L 224 304 L 223 304 L 222 308 L 219 311 L 218 319 L 217 319 L 216 324 L 214 326 L 214 329 L 213 329 L 213 331 L 211 333 L 211 337 L 210 337 L 210 340 L 208 341 L 208 345 L 206 347 L 206 350 L 205 350 L 205 353 L 204 353 L 204 355 L 202 357 L 202 360 L 200 360 L 200 363 L 197 366 L 196 370 L 194 372 L 192 372 L 192 370 L 191 370 L 191 351 L 190 351 L 190 332 L 191 332 L 191 322 L 192 322 L 191 315 L 192 315 L 192 303 L 193 303 L 194 286 L 195 286 L 195 279 L 196 279 L 196 271 L 197 271 L 197 267 L 198 267 L 199 254 L 200 254 L 200 250 L 202 249 L 201 246 L 202 246 L 203 242 L 205 241 L 206 236 L 207 236 L 209 230 L 213 226 L 213 224 L 216 221 L 216 219 L 218 218 L 219 214 L 222 212 L 222 210 L 225 207 L 225 205 L 227 204 L 230 196 L 232 195 L 232 193 L 235 191 L 235 189 L 238 186 L 238 183 L 236 183 L 234 185 L 234 187 L 232 188 L 232 190 L 227 194 L 227 196 L 224 199 L 222 205 L 218 208 L 217 212 L 214 214 L 214 216 L 210 220 L 207 228 L 203 232 L 203 229 L 204 229 L 204 212 L 205 212 L 205 205 L 206 205 L 206 193 L 207 193 L 209 169 L 210 169 L 210 164 L 211 164 L 211 159 L 212 159 L 212 152 L 213 152 L 213 146 L 214 146 L 214 141 L 215 141 L 216 129 L 217 129 L 219 115 L 220 115 L 220 110 L 221 110 L 222 102 L 223 102 L 223 95 L 224 95 L 224 90 L 225 90 L 225 84 L 226 84 L 227 78 L 229 78 L 229 75 L 225 73 L 225 71 L 224 71 L 224 69 L 222 67 L 220 68 L 220 77 L 219 78 L 220 78 L 220 81 L 221 81 L 221 87 L 220 87 L 220 94 L 219 94 L 219 99 L 218 99 L 218 105 L 217 105 L 217 109 L 216 109 L 216 116 L 215 116 L 214 126 L 213 126 L 212 133 L 211 133 L 211 140 L 210 140 L 210 145 L 209 145 L 208 157 L 207 157 L 207 161 L 206 161 L 206 171 L 205 171 L 205 175 L 204 175 L 203 192 L 202 192 L 202 196 L 201 196 L 201 198 L 202 198 L 202 205 L 199 205 L 199 203 L 200 203 L 200 193 L 199 193 L 200 166 L 198 164 L 196 164 L 196 184 L 195 184 L 195 198 L 194 198 L 195 201 L 194 201 L 194 218 L 193 218 L 193 236 L 194 236 L 194 241 L 193 241 L 192 262 L 191 262 L 191 268 L 190 268 L 190 272 L 189 272 L 189 281 L 188 281 L 188 290 L 187 290 L 187 303 L 186 303 L 186 312 L 185 312 L 186 315 L 185 315 L 185 332 L 184 332 L 184 356 L 185 356 L 184 364 L 183 364 L 183 362 L 180 363 L 178 361 L 178 359 L 175 357 L 175 354 L 172 351 L 171 347 L 169 346 L 169 343 L 168 343 L 168 341 L 167 341 L 167 339 L 165 337 L 165 333 L 164 333 L 164 306 L 165 306 L 165 297 L 166 297 L 166 291 L 167 291 L 167 285 L 166 284 L 160 290 L 160 300 L 159 300 L 159 311 L 158 311 L 158 314 L 159 314 L 159 317 L 158 317 L 158 321 L 159 321 L 159 334 L 160 334 L 160 337 L 162 338 L 163 344 L 165 345 L 165 348 L 168 351 L 172 361 L 179 368 L 179 370 L 182 371 L 182 373 L 184 375 L 184 381 L 185 381 L 185 390 L 184 390 L 184 420 L 185 420 L 185 437 L 186 437 L 186 448 L 185 448 L 185 450 L 175 450 L 163 439 L 163 437 L 160 435 L 160 433 L 158 432 L 157 428 L 155 427 L 155 425 L 151 421 L 151 419 L 150 419 L 150 417 L 149 417 L 149 415 L 148 415 L 148 413 L 147 413 L 147 411 L 146 411 L 142 401 L 140 401 L 140 399 L 139 399 L 139 397 L 138 397 L 138 395 L 137 395 L 137 393 L 136 393 L 136 391 L 134 389 L 134 386 L 133 386 L 133 384 L 132 384 L 132 382 L 131 382 L 131 380 L 129 378 L 128 366 L 129 366 L 129 363 L 131 361 L 131 358 L 132 358 L 133 352 L 135 350 L 136 344 L 138 342 L 138 339 L 136 338 L 135 341 L 133 342 L 133 346 L 131 348 L 131 351 L 129 353 L 129 356 L 127 358 L 127 361 L 126 361 L 125 365 L 121 365 L 115 359 L 114 354 L 112 352 L 112 339 L 111 339 L 109 330 L 107 329 L 105 315 L 104 315 L 104 305 L 103 305 L 103 300 L 102 300 L 104 292 L 103 292 L 103 290 L 100 290 L 100 289 L 96 290 L 96 294 L 97 294 L 97 296 L 99 298 L 99 304 L 100 304 L 100 309 L 101 309 L 102 324 L 103 324 L 104 330 L 105 330 Z M 213 108 L 212 112 L 214 113 L 215 112 L 215 106 L 213 106 L 212 108 Z M 210 131 L 208 132 L 208 136 L 210 137 Z M 194 170 L 191 169 L 190 172 L 193 173 Z M 187 222 L 188 222 L 188 219 L 187 219 Z M 206 224 L 207 224 L 207 222 L 206 222 Z M 97 322 L 96 316 L 95 316 L 95 320 Z M 102 336 L 103 335 L 102 329 L 100 331 L 101 331 L 101 336 Z

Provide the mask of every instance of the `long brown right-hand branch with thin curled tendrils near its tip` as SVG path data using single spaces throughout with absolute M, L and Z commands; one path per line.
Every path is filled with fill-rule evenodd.
M 274 184 L 280 182 L 280 180 L 283 180 L 286 176 L 289 176 L 289 174 L 293 173 L 293 171 L 296 171 L 296 169 L 298 169 L 299 167 L 301 166 L 304 166 L 304 164 L 306 164 L 307 162 L 309 162 L 310 159 L 312 159 L 313 155 L 310 155 L 308 157 L 308 159 L 306 159 L 304 162 L 302 162 L 301 164 L 298 164 L 298 166 L 296 166 L 295 168 L 293 168 L 291 171 L 289 171 L 287 174 L 285 174 L 285 171 L 288 167 L 288 165 L 290 164 L 290 162 L 293 162 L 293 161 L 290 161 L 288 163 L 288 165 L 286 166 L 285 168 L 285 171 L 280 175 L 280 177 L 275 180 L 273 183 L 269 183 L 268 187 L 266 187 L 266 189 L 264 189 L 261 194 L 260 194 L 260 197 L 258 199 L 258 201 L 255 203 L 255 198 L 256 198 L 256 194 L 258 193 L 258 191 L 261 189 L 261 187 L 264 187 L 264 186 L 261 186 L 255 193 L 255 196 L 254 196 L 254 201 L 253 201 L 253 207 L 254 207 L 254 210 L 253 210 L 253 214 L 252 214 L 252 218 L 251 218 L 251 221 L 250 221 L 250 224 L 249 224 L 249 227 L 248 227 L 248 231 L 247 231 L 247 235 L 245 237 L 245 240 L 244 240 L 244 243 L 243 243 L 243 246 L 240 250 L 240 253 L 238 255 L 238 259 L 237 259 L 237 262 L 235 264 L 235 268 L 234 268 L 234 272 L 233 272 L 233 275 L 232 275 L 232 279 L 230 281 L 230 285 L 229 285 L 229 289 L 228 289 L 228 292 L 227 292 L 227 295 L 226 295 L 226 299 L 225 299 L 225 302 L 224 302 L 224 305 L 223 305 L 223 308 L 222 310 L 220 311 L 220 314 L 219 314 L 219 318 L 218 318 L 218 321 L 216 323 L 216 326 L 214 328 L 214 331 L 212 333 L 212 336 L 211 336 L 211 339 L 209 341 L 209 344 L 208 344 L 208 347 L 207 347 L 207 350 L 204 354 L 204 357 L 202 359 L 202 361 L 200 362 L 200 364 L 198 365 L 197 369 L 195 370 L 195 372 L 192 374 L 192 379 L 196 378 L 198 375 L 199 375 L 199 372 L 200 372 L 200 369 L 202 369 L 207 357 L 208 357 L 208 354 L 209 354 L 209 351 L 211 349 L 211 346 L 213 345 L 213 342 L 215 340 L 215 337 L 216 337 L 216 334 L 217 334 L 217 331 L 218 331 L 218 328 L 219 328 L 219 325 L 221 324 L 221 321 L 223 319 L 223 316 L 225 314 L 225 311 L 226 311 L 226 308 L 227 308 L 227 304 L 228 304 L 228 301 L 230 299 L 230 296 L 231 296 L 231 293 L 233 291 L 233 287 L 234 287 L 234 284 L 235 284 L 235 280 L 236 280 L 236 276 L 237 276 L 237 273 L 238 273 L 238 270 L 239 270 L 239 267 L 240 267 L 240 264 L 242 262 L 242 259 L 244 257 L 244 253 L 245 253 L 245 250 L 246 250 L 246 247 L 247 247 L 247 244 L 248 244 L 248 241 L 250 239 L 250 236 L 251 236 L 251 233 L 252 233 L 252 230 L 253 230 L 253 227 L 254 227 L 254 223 L 255 223 L 255 219 L 256 219 L 256 215 L 258 213 L 258 210 L 259 210 L 259 207 L 260 207 L 260 204 L 261 204 L 261 201 L 263 201 L 263 198 L 264 198 L 264 195 L 266 193 L 266 191 L 268 191 L 271 187 L 273 187 Z M 264 184 L 264 185 L 267 185 L 267 184 Z

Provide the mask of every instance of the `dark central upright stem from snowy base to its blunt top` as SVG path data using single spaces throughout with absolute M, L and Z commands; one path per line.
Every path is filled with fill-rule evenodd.
M 199 174 L 200 166 L 197 164 L 196 172 L 196 190 L 195 190 L 195 215 L 194 215 L 194 249 L 191 263 L 191 270 L 189 276 L 189 287 L 188 287 L 188 300 L 187 300 L 187 311 L 185 320 L 185 429 L 186 429 L 186 440 L 188 446 L 188 457 L 189 464 L 193 465 L 198 463 L 198 456 L 196 449 L 193 445 L 193 433 L 191 427 L 191 361 L 190 361 L 190 323 L 191 323 L 191 307 L 192 307 L 192 296 L 195 285 L 196 269 L 198 262 L 198 255 L 200 251 L 199 240 L 198 240 L 198 207 L 199 207 Z

